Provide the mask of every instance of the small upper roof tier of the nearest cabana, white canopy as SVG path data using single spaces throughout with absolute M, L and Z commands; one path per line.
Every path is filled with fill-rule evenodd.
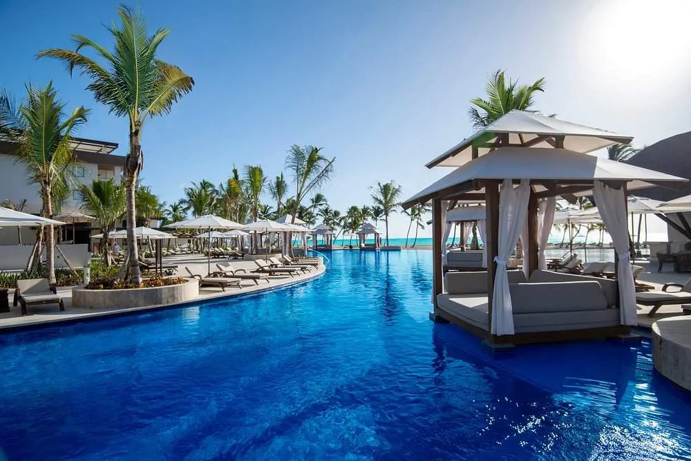
M 554 147 L 555 137 L 563 137 L 564 149 L 580 153 L 596 151 L 619 142 L 628 144 L 633 139 L 632 136 L 514 110 L 473 133 L 471 137 L 448 149 L 426 166 L 460 167 L 473 159 L 473 145 L 477 145 L 477 155 L 484 156 L 490 152 L 498 135 L 502 134 L 509 135 L 509 145 L 537 148 Z

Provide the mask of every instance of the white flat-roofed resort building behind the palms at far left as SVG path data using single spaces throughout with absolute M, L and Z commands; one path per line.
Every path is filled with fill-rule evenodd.
M 115 142 L 74 138 L 71 143 L 79 162 L 75 169 L 75 183 L 68 194 L 61 213 L 79 211 L 82 203 L 81 195 L 77 188 L 79 184 L 90 185 L 93 180 L 107 180 L 115 178 L 119 181 L 122 177 L 125 157 L 113 154 L 117 149 Z M 17 163 L 15 151 L 17 147 L 10 142 L 0 141 L 0 202 L 10 200 L 15 205 L 23 204 L 21 211 L 30 214 L 39 214 L 41 211 L 41 196 L 39 187 L 29 182 L 26 170 L 22 164 Z M 81 227 L 81 229 L 80 229 Z M 23 243 L 33 241 L 35 231 L 26 227 L 21 231 Z M 88 223 L 77 224 L 75 227 L 75 241 L 88 243 Z M 16 245 L 17 230 L 0 230 L 0 245 Z

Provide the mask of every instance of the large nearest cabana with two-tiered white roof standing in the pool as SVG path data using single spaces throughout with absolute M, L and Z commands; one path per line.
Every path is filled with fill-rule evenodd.
M 530 123 L 512 128 L 504 118 Z M 496 133 L 493 126 L 503 131 Z M 495 345 L 609 337 L 635 326 L 627 191 L 686 180 L 584 153 L 630 140 L 512 111 L 428 164 L 458 166 L 402 204 L 404 208 L 433 205 L 431 317 L 456 323 Z M 537 147 L 543 144 L 551 147 Z M 576 196 L 593 196 L 599 205 L 618 256 L 616 280 L 546 270 L 545 248 L 556 198 L 574 201 Z M 456 200 L 485 203 L 486 272 L 442 276 L 446 212 Z M 519 238 L 523 271 L 507 271 Z

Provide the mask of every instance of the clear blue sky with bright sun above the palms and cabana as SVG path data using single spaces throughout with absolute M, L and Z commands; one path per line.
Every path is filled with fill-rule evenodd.
M 125 155 L 127 120 L 95 102 L 84 77 L 35 59 L 72 48 L 73 33 L 110 48 L 103 25 L 120 2 L 31 3 L 0 0 L 0 88 L 21 97 L 27 82 L 52 79 L 68 108 L 92 109 L 78 135 L 117 142 Z M 636 147 L 691 129 L 689 0 L 130 5 L 151 32 L 171 29 L 160 58 L 196 82 L 142 131 L 144 183 L 169 203 L 191 182 L 223 182 L 234 165 L 261 164 L 273 178 L 292 144 L 336 158 L 322 190 L 332 208 L 372 205 L 370 187 L 389 180 L 413 196 L 451 171 L 424 164 L 473 132 L 469 100 L 500 68 L 523 83 L 547 79 L 536 109 L 633 135 Z M 406 216 L 392 217 L 392 237 L 407 229 Z

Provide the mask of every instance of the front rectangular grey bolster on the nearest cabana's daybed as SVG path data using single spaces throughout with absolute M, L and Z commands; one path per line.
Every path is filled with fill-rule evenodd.
M 596 281 L 515 283 L 509 290 L 514 314 L 607 309 Z

